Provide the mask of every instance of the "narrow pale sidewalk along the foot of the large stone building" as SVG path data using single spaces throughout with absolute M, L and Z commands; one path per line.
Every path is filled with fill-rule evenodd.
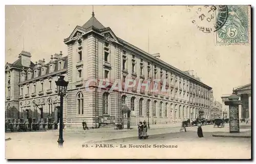
M 167 128 L 176 128 L 181 127 L 181 122 L 171 123 L 171 124 L 153 124 L 150 125 L 149 129 L 167 129 Z M 80 129 L 67 129 L 66 132 L 72 132 L 72 133 L 86 133 L 86 132 L 93 132 L 93 133 L 102 133 L 102 132 L 125 132 L 125 131 L 137 131 L 138 126 L 131 126 L 131 129 L 115 129 L 113 127 L 107 127 L 107 128 L 98 128 L 98 129 L 89 129 L 89 130 L 80 130 Z

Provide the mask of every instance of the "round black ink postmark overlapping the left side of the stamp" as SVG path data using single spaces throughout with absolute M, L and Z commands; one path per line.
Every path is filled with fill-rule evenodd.
M 205 5 L 189 9 L 193 13 L 191 22 L 204 32 L 216 32 L 222 28 L 228 18 L 228 7 L 226 5 Z

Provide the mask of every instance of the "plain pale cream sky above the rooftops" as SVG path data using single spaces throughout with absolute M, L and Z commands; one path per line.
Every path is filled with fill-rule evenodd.
M 33 62 L 62 51 L 76 25 L 92 15 L 92 6 L 6 6 L 5 63 L 24 49 Z M 232 88 L 251 83 L 250 44 L 218 45 L 216 33 L 202 33 L 186 6 L 94 6 L 95 17 L 115 35 L 186 71 L 194 70 L 221 101 Z M 148 40 L 149 37 L 149 40 Z M 149 46 L 148 46 L 149 45 Z

